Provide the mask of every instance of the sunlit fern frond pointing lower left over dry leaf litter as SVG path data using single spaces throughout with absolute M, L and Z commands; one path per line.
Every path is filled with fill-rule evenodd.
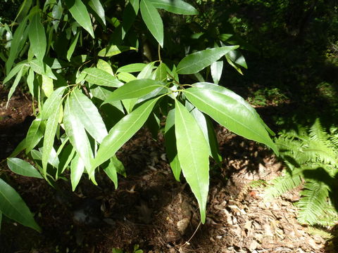
M 288 190 L 299 186 L 302 183 L 301 170 L 295 169 L 294 171 L 287 172 L 284 176 L 278 176 L 273 181 L 270 181 L 270 183 L 271 185 L 265 188 L 263 195 L 265 200 L 272 200 Z

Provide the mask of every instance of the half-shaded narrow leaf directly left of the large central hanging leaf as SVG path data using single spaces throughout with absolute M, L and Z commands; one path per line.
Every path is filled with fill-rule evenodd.
M 165 121 L 164 129 L 165 138 L 165 153 L 170 163 L 170 167 L 173 170 L 173 174 L 177 181 L 180 181 L 181 165 L 177 156 L 176 136 L 175 136 L 175 110 L 168 112 L 167 119 Z

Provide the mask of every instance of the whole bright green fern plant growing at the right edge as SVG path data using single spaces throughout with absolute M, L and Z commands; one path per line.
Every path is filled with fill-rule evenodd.
M 338 131 L 327 132 L 320 120 L 310 127 L 280 134 L 276 139 L 286 169 L 282 176 L 270 181 L 265 188 L 265 199 L 271 200 L 293 188 L 303 186 L 297 219 L 310 225 L 332 225 L 338 220 L 334 201 L 337 194 Z

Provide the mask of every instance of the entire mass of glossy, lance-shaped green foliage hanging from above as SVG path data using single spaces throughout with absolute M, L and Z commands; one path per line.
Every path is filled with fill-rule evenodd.
M 182 43 L 184 37 L 180 41 L 164 29 L 163 20 L 170 16 L 163 11 L 198 13 L 181 0 L 23 1 L 9 31 L 11 48 L 4 51 L 3 84 L 8 100 L 20 83 L 32 95 L 36 119 L 13 156 L 25 150 L 34 167 L 11 157 L 12 171 L 54 185 L 69 170 L 75 190 L 82 174 L 96 184 L 95 174 L 103 169 L 117 187 L 118 174 L 125 171 L 115 153 L 144 124 L 156 133 L 165 121 L 173 174 L 180 181 L 182 172 L 189 183 L 204 223 L 209 156 L 221 161 L 213 120 L 277 153 L 269 136 L 273 132 L 256 110 L 218 85 L 223 56 L 238 72 L 246 67 L 234 45 L 238 41 L 230 39 L 233 34 L 187 18 L 183 20 L 198 43 Z M 182 17 L 173 15 L 175 19 Z M 179 53 L 174 55 L 172 48 Z M 13 195 L 0 190 L 5 197 Z M 21 201 L 4 201 L 0 210 L 39 230 L 32 215 L 17 212 L 21 207 Z

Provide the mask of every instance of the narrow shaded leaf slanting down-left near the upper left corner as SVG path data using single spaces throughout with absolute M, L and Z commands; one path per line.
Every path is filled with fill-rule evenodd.
M 27 39 L 27 32 L 25 32 L 27 28 L 27 20 L 28 17 L 26 16 L 23 21 L 20 22 L 18 28 L 14 32 L 13 39 L 11 41 L 11 48 L 9 50 L 9 56 L 6 60 L 6 74 L 11 71 L 14 60 L 17 58 L 18 53 L 20 52 L 20 45 L 25 43 Z

